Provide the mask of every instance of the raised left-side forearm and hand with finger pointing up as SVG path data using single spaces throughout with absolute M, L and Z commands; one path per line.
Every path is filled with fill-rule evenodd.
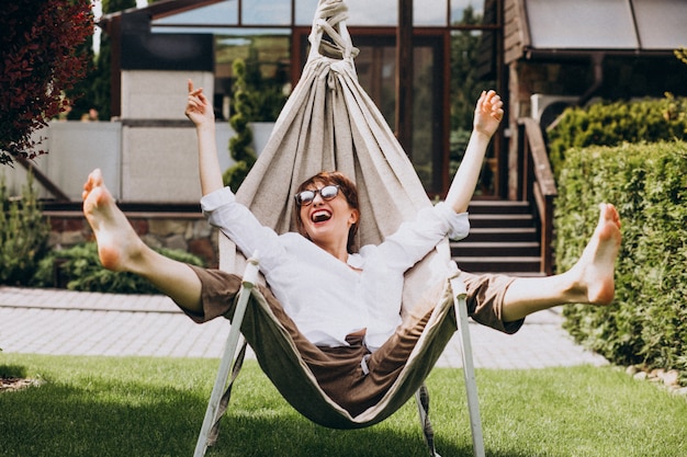
M 201 174 L 201 192 L 207 195 L 224 187 L 217 144 L 215 141 L 215 113 L 205 98 L 203 89 L 194 89 L 189 80 L 189 100 L 185 115 L 195 126 L 198 134 L 198 161 Z

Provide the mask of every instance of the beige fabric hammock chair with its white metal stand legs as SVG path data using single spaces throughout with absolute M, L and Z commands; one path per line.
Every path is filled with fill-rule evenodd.
M 426 206 L 431 205 L 410 161 L 382 114 L 358 82 L 352 46 L 345 20 L 348 9 L 341 0 L 319 0 L 309 36 L 311 53 L 303 76 L 278 118 L 270 140 L 260 153 L 236 196 L 261 221 L 278 233 L 295 231 L 293 195 L 299 184 L 323 170 L 338 170 L 351 178 L 359 192 L 361 226 L 356 245 L 378 244 L 384 237 Z M 274 196 L 281 196 L 277 201 Z M 247 253 L 251 254 L 251 253 Z M 246 259 L 224 236 L 219 240 L 222 270 L 244 274 Z M 465 290 L 458 267 L 450 259 L 448 240 L 406 273 L 402 318 L 420 301 L 430 284 L 444 281 L 441 299 L 407 364 L 391 389 L 375 405 L 357 416 L 339 407 L 319 388 L 301 358 L 291 336 L 272 315 L 266 298 L 252 285 L 263 283 L 250 263 L 244 274 L 227 350 L 199 436 L 196 456 L 204 455 L 216 439 L 216 424 L 226 408 L 219 405 L 230 359 L 238 342 L 238 328 L 251 325 L 259 341 L 251 344 L 260 367 L 280 393 L 299 412 L 315 423 L 335 429 L 356 429 L 386 419 L 420 390 L 427 375 L 461 322 L 463 369 L 475 455 L 483 455 L 482 432 L 474 387 L 472 353 L 468 333 Z M 250 296 L 250 297 L 249 297 Z M 241 304 L 243 301 L 243 304 Z M 246 305 L 247 302 L 247 305 Z M 241 307 L 247 306 L 246 320 Z M 234 377 L 236 374 L 234 375 Z M 232 380 L 233 381 L 233 380 Z M 227 389 L 227 392 L 230 390 Z M 426 408 L 420 420 L 433 454 L 431 427 Z

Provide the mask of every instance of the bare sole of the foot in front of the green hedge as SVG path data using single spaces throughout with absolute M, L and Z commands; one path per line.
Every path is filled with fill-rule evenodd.
M 577 302 L 608 305 L 616 292 L 613 273 L 620 250 L 620 216 L 613 205 L 599 205 L 599 222 L 582 256 L 571 270 L 577 277 Z

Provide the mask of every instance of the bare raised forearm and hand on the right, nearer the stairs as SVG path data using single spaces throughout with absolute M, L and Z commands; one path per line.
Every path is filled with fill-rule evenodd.
M 494 91 L 484 91 L 477 100 L 473 121 L 472 135 L 465 149 L 453 182 L 446 197 L 455 213 L 464 213 L 472 199 L 472 195 L 480 178 L 486 148 L 496 133 L 500 119 L 504 117 L 504 103 Z

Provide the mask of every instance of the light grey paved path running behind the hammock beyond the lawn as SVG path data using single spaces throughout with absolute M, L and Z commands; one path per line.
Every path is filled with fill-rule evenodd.
M 561 328 L 556 311 L 530 316 L 515 335 L 471 323 L 477 368 L 604 365 Z M 0 347 L 5 353 L 219 357 L 229 323 L 193 323 L 167 297 L 0 286 Z M 453 338 L 440 367 L 462 366 Z

